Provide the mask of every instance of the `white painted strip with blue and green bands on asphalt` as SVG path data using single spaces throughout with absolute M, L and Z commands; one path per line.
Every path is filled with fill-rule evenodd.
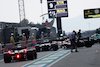
M 63 59 L 65 56 L 69 55 L 70 53 L 71 53 L 70 49 L 69 50 L 64 50 L 64 49 L 58 50 L 40 59 L 37 59 L 28 64 L 25 64 L 22 67 L 50 67 L 51 65 Z

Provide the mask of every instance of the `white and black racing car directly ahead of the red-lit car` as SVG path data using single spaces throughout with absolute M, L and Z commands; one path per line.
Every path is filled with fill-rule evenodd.
M 49 40 L 43 40 L 40 41 L 37 45 L 36 45 L 36 51 L 40 52 L 40 51 L 50 51 L 50 50 L 58 50 L 58 44 L 56 41 L 49 41 Z

